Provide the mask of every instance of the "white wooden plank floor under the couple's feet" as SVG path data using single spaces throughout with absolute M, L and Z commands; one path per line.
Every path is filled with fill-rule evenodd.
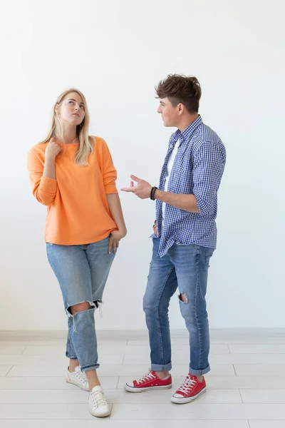
M 207 393 L 175 405 L 171 390 L 125 392 L 150 365 L 146 332 L 99 332 L 108 419 L 67 384 L 64 332 L 0 332 L 1 428 L 285 428 L 285 330 L 214 330 Z M 173 390 L 187 374 L 185 331 L 172 332 Z M 84 420 L 83 420 L 84 419 Z

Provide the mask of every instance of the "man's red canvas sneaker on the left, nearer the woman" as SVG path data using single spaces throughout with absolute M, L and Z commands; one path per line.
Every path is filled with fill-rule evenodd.
M 127 382 L 125 389 L 128 392 L 144 392 L 150 389 L 169 389 L 172 387 L 171 374 L 166 379 L 160 379 L 153 371 L 145 374 L 142 379 Z

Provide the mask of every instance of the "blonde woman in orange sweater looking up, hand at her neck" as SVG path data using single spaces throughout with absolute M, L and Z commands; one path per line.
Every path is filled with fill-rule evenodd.
M 33 195 L 48 207 L 48 261 L 68 317 L 66 382 L 90 391 L 90 413 L 105 417 L 110 407 L 96 372 L 94 311 L 127 231 L 108 146 L 89 136 L 88 127 L 83 94 L 76 89 L 62 93 L 46 140 L 28 153 L 28 173 Z

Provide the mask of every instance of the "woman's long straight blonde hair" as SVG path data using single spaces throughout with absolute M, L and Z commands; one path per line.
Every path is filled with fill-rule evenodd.
M 90 155 L 90 153 L 93 153 L 94 138 L 90 137 L 88 133 L 89 113 L 88 113 L 86 98 L 83 95 L 83 93 L 81 93 L 81 91 L 78 91 L 78 89 L 74 89 L 74 88 L 68 89 L 67 91 L 64 91 L 63 93 L 61 93 L 61 95 L 58 97 L 55 105 L 53 106 L 53 118 L 51 121 L 51 128 L 48 131 L 48 135 L 46 136 L 46 138 L 43 141 L 41 141 L 41 143 L 39 144 L 48 143 L 48 141 L 50 141 L 52 137 L 56 136 L 56 134 L 61 139 L 61 141 L 63 141 L 63 131 L 61 127 L 61 122 L 59 121 L 58 115 L 56 114 L 56 106 L 58 106 L 64 100 L 64 98 L 68 96 L 68 93 L 71 93 L 71 92 L 76 92 L 78 93 L 79 96 L 81 96 L 85 107 L 85 116 L 83 118 L 83 121 L 80 125 L 76 127 L 76 133 L 79 140 L 79 148 L 76 153 L 75 163 L 78 166 L 87 166 L 89 165 L 88 156 Z

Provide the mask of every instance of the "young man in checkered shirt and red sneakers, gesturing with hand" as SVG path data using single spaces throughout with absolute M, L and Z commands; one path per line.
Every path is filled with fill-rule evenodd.
M 157 200 L 152 262 L 143 301 L 150 336 L 151 370 L 125 389 L 142 392 L 172 387 L 170 298 L 179 289 L 182 317 L 190 335 L 190 369 L 172 402 L 191 402 L 206 391 L 209 372 L 209 323 L 206 309 L 209 259 L 217 243 L 217 191 L 226 152 L 222 141 L 198 114 L 197 78 L 170 75 L 156 88 L 165 126 L 175 126 L 162 166 L 160 185 L 131 175 L 137 185 L 124 188 L 139 198 Z

